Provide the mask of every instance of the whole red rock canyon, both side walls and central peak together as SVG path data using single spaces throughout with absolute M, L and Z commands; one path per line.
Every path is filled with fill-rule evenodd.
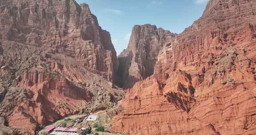
M 116 56 L 75 0 L 0 0 L 0 134 L 106 110 L 128 135 L 256 134 L 256 1 L 209 0 L 180 34 L 135 25 Z

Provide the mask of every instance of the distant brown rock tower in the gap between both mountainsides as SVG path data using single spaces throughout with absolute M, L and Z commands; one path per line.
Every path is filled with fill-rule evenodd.
M 135 25 L 128 48 L 118 56 L 120 86 L 132 87 L 137 81 L 154 73 L 158 53 L 164 46 L 174 42 L 173 34 L 155 25 Z

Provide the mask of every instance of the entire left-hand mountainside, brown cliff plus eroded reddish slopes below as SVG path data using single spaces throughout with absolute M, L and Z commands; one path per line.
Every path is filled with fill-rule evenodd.
M 33 133 L 111 106 L 123 93 L 113 85 L 117 66 L 110 34 L 87 4 L 0 0 L 0 116 L 10 127 Z

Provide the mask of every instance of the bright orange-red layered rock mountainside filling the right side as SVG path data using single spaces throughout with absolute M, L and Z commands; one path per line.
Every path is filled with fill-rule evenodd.
M 112 131 L 256 134 L 256 1 L 210 0 L 160 51 L 154 75 L 128 90 Z

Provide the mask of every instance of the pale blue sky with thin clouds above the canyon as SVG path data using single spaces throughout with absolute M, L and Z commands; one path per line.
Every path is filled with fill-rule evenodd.
M 117 54 L 127 48 L 134 25 L 154 24 L 180 33 L 204 12 L 208 0 L 76 0 L 87 3 L 110 32 Z

